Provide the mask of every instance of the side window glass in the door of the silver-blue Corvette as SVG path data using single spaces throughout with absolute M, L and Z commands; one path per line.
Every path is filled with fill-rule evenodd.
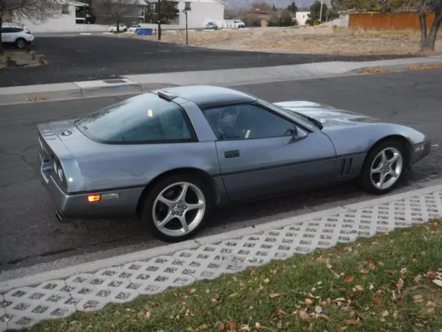
M 204 110 L 220 140 L 247 140 L 291 136 L 295 124 L 253 104 L 238 104 Z

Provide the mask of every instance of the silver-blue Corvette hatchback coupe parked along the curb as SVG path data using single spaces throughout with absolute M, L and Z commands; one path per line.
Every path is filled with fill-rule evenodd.
M 38 131 L 60 221 L 137 216 L 166 241 L 195 235 L 217 205 L 354 179 L 390 192 L 431 148 L 410 127 L 218 86 L 151 91 Z

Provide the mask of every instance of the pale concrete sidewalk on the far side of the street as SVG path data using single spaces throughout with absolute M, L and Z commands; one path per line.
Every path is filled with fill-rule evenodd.
M 216 71 L 187 71 L 126 75 L 121 79 L 39 84 L 0 88 L 0 104 L 21 104 L 77 98 L 131 95 L 166 86 L 211 84 L 236 86 L 271 82 L 309 80 L 340 75 L 359 75 L 365 68 L 402 70 L 407 66 L 442 63 L 442 56 L 410 57 L 371 62 L 317 62 L 262 68 L 235 68 Z

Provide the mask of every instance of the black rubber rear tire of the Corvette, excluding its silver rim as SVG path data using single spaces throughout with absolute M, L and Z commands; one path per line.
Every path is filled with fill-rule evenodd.
M 160 231 L 157 228 L 157 225 L 155 225 L 155 221 L 153 219 L 153 208 L 157 196 L 160 195 L 164 189 L 166 189 L 170 185 L 173 185 L 174 183 L 180 183 L 180 182 L 191 183 L 195 187 L 198 187 L 198 189 L 204 195 L 204 200 L 206 205 L 201 221 L 198 223 L 198 225 L 195 228 L 193 228 L 193 230 L 190 230 L 188 233 L 179 236 L 176 235 L 171 236 L 169 234 L 164 234 L 164 232 Z M 146 197 L 146 200 L 144 201 L 142 207 L 141 221 L 142 223 L 146 224 L 148 230 L 150 230 L 151 234 L 153 234 L 153 236 L 156 237 L 157 239 L 162 239 L 167 242 L 180 242 L 186 239 L 190 239 L 191 237 L 194 237 L 196 234 L 198 234 L 198 232 L 200 232 L 200 230 L 204 228 L 206 220 L 208 219 L 209 214 L 211 214 L 211 210 L 214 205 L 214 199 L 212 194 L 213 191 L 211 189 L 212 188 L 206 181 L 194 175 L 180 174 L 164 178 L 159 183 L 157 183 L 155 187 L 153 187 L 150 194 L 148 194 L 148 196 Z

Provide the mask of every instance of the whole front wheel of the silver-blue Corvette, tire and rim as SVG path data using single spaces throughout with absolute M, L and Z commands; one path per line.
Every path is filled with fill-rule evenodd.
M 367 156 L 358 182 L 371 194 L 386 194 L 401 179 L 405 165 L 405 147 L 394 140 L 383 142 Z

